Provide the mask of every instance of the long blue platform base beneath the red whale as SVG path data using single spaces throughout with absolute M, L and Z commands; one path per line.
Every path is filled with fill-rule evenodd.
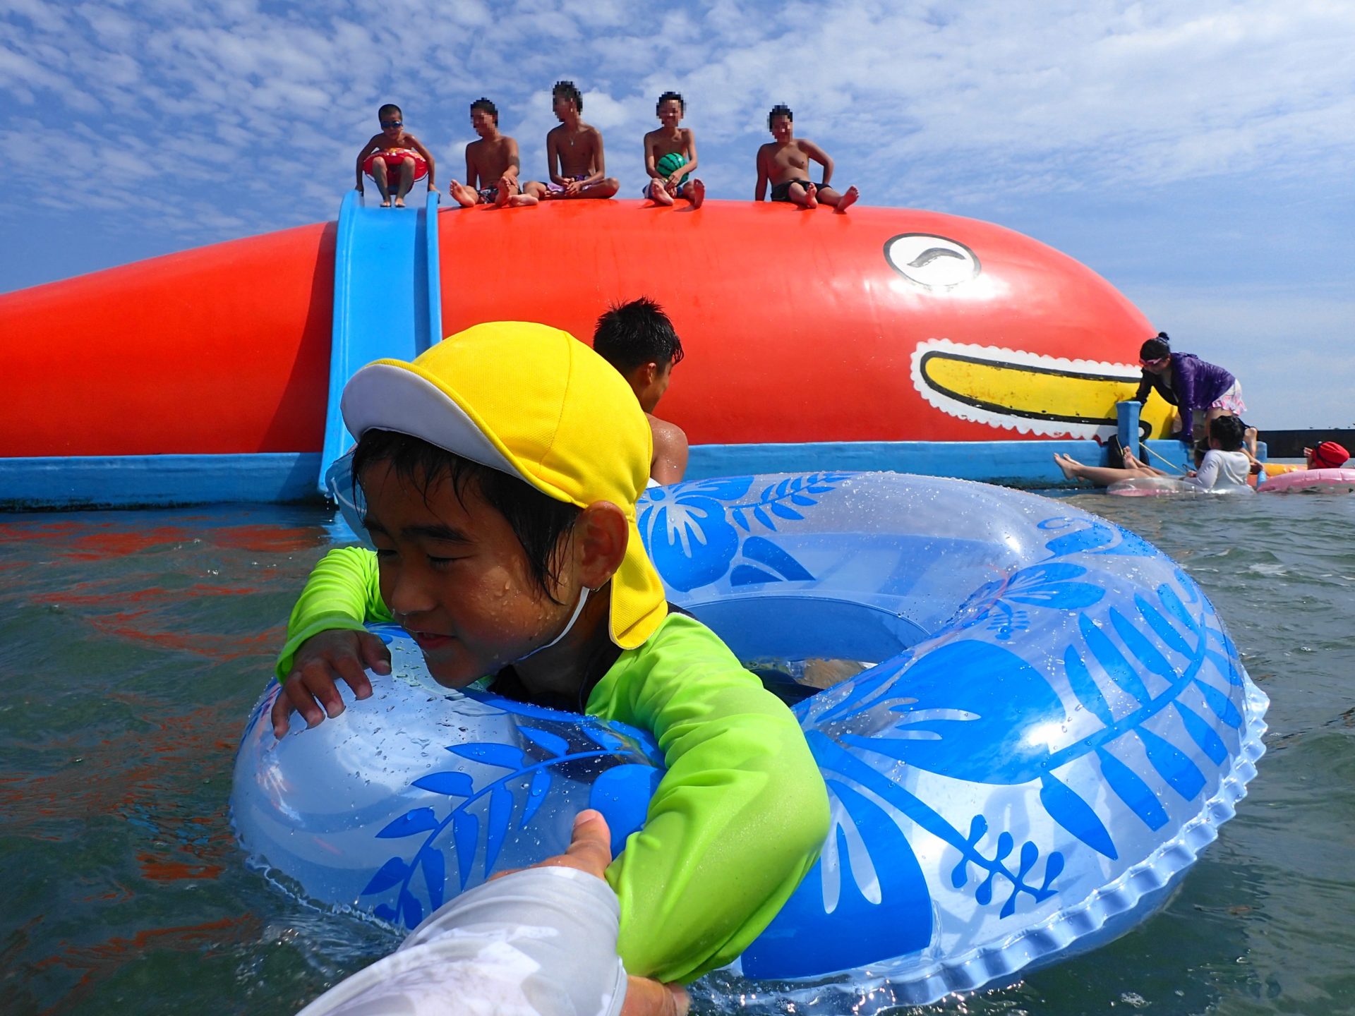
M 1184 462 L 1179 442 L 1153 440 L 1148 446 L 1176 466 Z M 1104 448 L 1089 440 L 698 444 L 691 448 L 687 480 L 893 470 L 1007 486 L 1072 486 L 1053 462 L 1056 451 L 1089 465 L 1106 461 Z M 0 509 L 317 501 L 318 471 L 318 452 L 0 458 Z

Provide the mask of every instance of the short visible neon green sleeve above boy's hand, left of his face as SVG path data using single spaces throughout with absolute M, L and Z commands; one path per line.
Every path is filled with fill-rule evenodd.
M 377 555 L 366 547 L 331 550 L 316 565 L 287 619 L 287 642 L 274 673 L 287 680 L 297 649 L 312 635 L 333 629 L 363 631 L 363 622 L 392 620 L 381 599 Z

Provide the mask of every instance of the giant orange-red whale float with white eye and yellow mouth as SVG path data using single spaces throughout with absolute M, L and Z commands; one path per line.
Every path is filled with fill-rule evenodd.
M 359 213 L 378 225 L 425 214 Z M 533 320 L 587 340 L 608 302 L 663 303 L 687 358 L 661 412 L 692 446 L 828 454 L 1110 435 L 1138 379 L 1138 345 L 1156 332 L 1073 259 L 938 213 L 598 200 L 427 215 L 438 336 Z M 350 314 L 336 305 L 340 233 L 289 229 L 0 297 L 11 379 L 0 473 L 22 473 L 23 459 L 69 474 L 129 457 L 318 454 L 336 306 Z M 341 251 L 339 261 L 359 284 L 360 263 Z M 404 299 L 398 286 L 383 293 Z M 371 298 L 347 322 L 367 348 L 381 321 L 382 295 Z M 1145 436 L 1161 436 L 1168 412 L 1149 402 Z M 70 457 L 85 461 L 61 462 Z

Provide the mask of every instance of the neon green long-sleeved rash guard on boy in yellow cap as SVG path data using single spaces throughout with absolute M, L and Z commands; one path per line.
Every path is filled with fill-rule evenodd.
M 332 550 L 287 625 L 278 676 L 318 631 L 390 620 L 377 557 Z M 790 710 L 701 622 L 669 614 L 621 653 L 587 711 L 653 732 L 668 765 L 645 825 L 607 868 L 626 970 L 691 981 L 741 954 L 809 871 L 828 794 Z

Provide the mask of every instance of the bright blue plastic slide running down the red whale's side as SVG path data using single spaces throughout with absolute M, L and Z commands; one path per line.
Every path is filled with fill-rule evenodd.
M 383 356 L 412 360 L 442 337 L 438 192 L 423 209 L 364 207 L 358 191 L 339 206 L 329 402 L 317 486 L 352 444 L 339 398 L 348 378 Z

